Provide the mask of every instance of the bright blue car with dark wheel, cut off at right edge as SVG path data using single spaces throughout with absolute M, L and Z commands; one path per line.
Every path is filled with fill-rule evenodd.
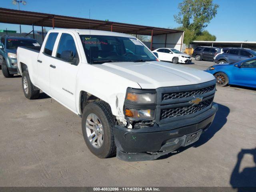
M 205 71 L 215 76 L 218 86 L 230 84 L 256 88 L 256 57 L 237 63 L 214 65 Z

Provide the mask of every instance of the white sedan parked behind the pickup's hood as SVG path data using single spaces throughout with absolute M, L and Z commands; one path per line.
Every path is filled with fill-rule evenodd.
M 158 59 L 161 61 L 177 63 L 191 63 L 191 57 L 188 54 L 182 53 L 172 48 L 158 48 L 153 51 L 158 55 Z

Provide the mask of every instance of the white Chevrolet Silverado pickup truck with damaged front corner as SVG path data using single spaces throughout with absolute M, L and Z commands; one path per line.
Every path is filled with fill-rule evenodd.
M 81 116 L 100 158 L 156 159 L 196 142 L 218 110 L 212 74 L 160 62 L 128 34 L 50 30 L 40 51 L 17 57 L 26 98 L 42 90 Z

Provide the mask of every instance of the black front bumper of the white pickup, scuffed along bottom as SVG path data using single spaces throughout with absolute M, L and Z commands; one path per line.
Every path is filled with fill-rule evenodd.
M 194 118 L 172 124 L 154 124 L 140 129 L 128 129 L 116 125 L 114 129 L 116 156 L 125 161 L 154 160 L 181 146 L 192 144 L 209 128 L 217 110 L 218 105 L 214 104 L 208 111 Z

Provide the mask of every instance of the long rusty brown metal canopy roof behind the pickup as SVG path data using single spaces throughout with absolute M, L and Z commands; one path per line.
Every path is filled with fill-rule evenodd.
M 128 34 L 140 34 L 140 35 L 160 35 L 169 34 L 176 32 L 183 32 L 181 30 L 102 21 L 92 20 L 86 18 L 77 18 L 69 16 L 61 16 L 54 14 L 21 11 L 0 8 L 0 22 L 11 23 L 11 24 L 22 24 L 22 25 L 33 25 L 34 26 L 46 26 L 46 27 L 57 27 L 57 28 L 76 28 L 76 29 L 96 29 L 113 31 Z

